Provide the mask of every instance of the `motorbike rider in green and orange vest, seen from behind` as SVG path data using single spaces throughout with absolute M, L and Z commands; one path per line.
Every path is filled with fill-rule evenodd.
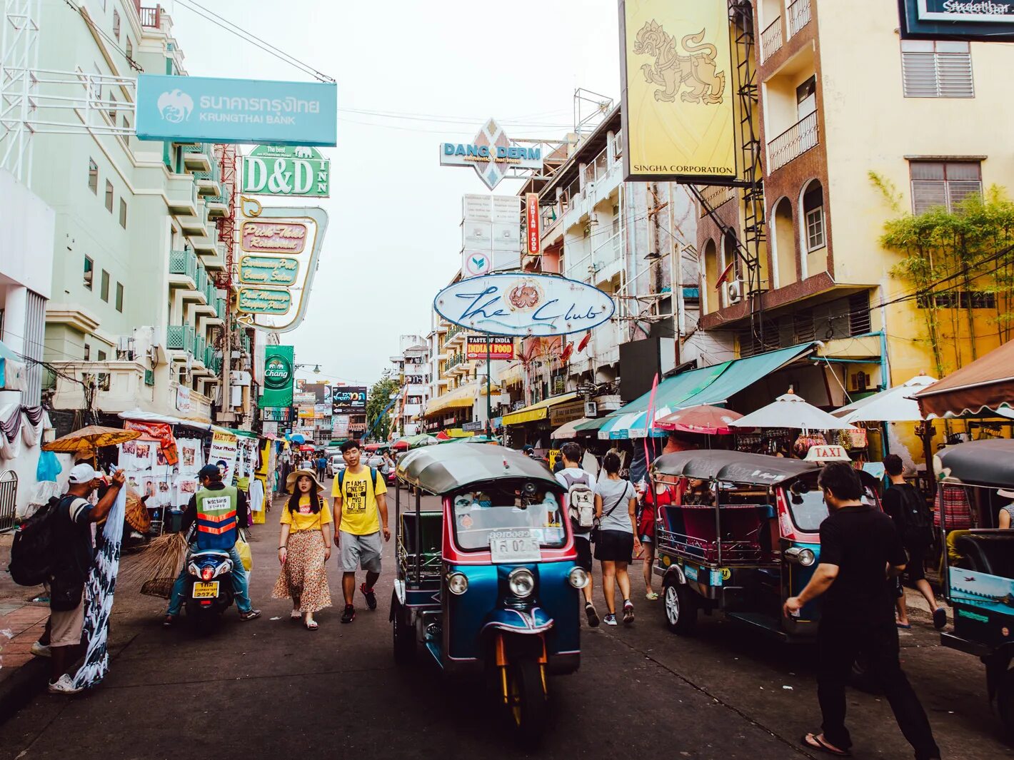
M 191 497 L 184 512 L 180 531 L 186 533 L 197 523 L 197 531 L 191 548 L 198 550 L 219 549 L 228 551 L 232 559 L 232 591 L 236 599 L 236 609 L 240 620 L 252 620 L 261 616 L 261 610 L 254 609 L 249 597 L 249 581 L 243 567 L 242 557 L 236 550 L 239 528 L 249 527 L 249 508 L 246 495 L 234 485 L 222 482 L 222 472 L 215 464 L 206 464 L 197 473 L 201 489 Z M 172 585 L 169 608 L 165 611 L 162 625 L 171 627 L 179 616 L 184 591 L 187 588 L 187 568 L 184 567 Z

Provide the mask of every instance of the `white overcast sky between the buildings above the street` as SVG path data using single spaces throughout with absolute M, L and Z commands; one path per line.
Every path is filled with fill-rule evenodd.
M 327 380 L 376 380 L 400 334 L 429 331 L 460 267 L 461 195 L 487 191 L 472 169 L 439 166 L 439 143 L 489 117 L 508 136 L 562 137 L 576 87 L 619 97 L 617 0 L 197 1 L 338 81 L 338 147 L 321 149 L 330 227 L 306 318 L 282 335 Z M 184 0 L 162 4 L 189 74 L 308 79 Z

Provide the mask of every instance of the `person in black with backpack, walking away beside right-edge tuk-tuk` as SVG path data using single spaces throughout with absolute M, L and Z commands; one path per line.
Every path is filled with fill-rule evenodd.
M 947 624 L 947 612 L 937 604 L 933 589 L 926 580 L 926 553 L 933 542 L 933 518 L 919 489 L 906 482 L 902 470 L 901 457 L 897 454 L 888 454 L 884 457 L 884 471 L 890 478 L 890 486 L 884 491 L 884 512 L 894 520 L 894 527 L 901 534 L 901 542 L 909 556 L 904 577 L 930 605 L 933 625 L 943 628 Z M 901 594 L 896 601 L 897 627 L 911 628 L 904 589 L 900 591 Z

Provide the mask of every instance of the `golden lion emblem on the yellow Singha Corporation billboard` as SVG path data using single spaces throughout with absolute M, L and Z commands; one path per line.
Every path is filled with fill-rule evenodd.
M 665 33 L 656 21 L 648 21 L 637 33 L 634 53 L 638 56 L 652 56 L 653 64 L 644 64 L 641 71 L 651 84 L 659 85 L 655 99 L 672 102 L 676 93 L 687 103 L 720 103 L 725 94 L 725 72 L 716 71 L 715 56 L 718 50 L 711 43 L 701 45 L 705 29 L 697 34 L 686 34 L 680 45 L 690 55 L 676 53 L 675 40 Z

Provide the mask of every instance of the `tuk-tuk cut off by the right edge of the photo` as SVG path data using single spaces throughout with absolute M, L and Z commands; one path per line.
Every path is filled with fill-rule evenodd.
M 969 441 L 937 452 L 940 524 L 947 525 L 951 498 L 963 489 L 973 516 L 970 530 L 946 533 L 943 552 L 945 596 L 954 612 L 953 630 L 940 643 L 975 655 L 986 666 L 986 685 L 1009 738 L 1014 739 L 1014 530 L 1002 530 L 1000 510 L 1014 489 L 1014 441 Z

